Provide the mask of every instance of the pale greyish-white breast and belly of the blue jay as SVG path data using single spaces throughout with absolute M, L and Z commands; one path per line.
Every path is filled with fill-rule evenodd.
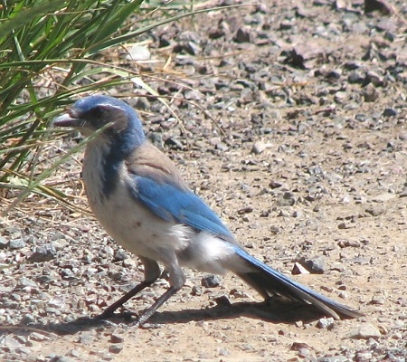
M 184 247 L 185 242 L 171 229 L 174 224 L 156 216 L 130 194 L 135 181 L 128 176 L 125 164 L 116 167 L 116 175 L 109 175 L 107 182 L 105 162 L 99 153 L 87 150 L 82 176 L 90 208 L 109 235 L 128 251 L 155 260 L 167 243 L 173 243 L 175 249 Z

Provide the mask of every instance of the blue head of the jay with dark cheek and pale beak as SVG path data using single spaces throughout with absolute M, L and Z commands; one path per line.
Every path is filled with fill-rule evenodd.
M 105 95 L 77 100 L 70 110 L 53 120 L 53 125 L 78 129 L 84 136 L 106 128 L 98 138 L 127 148 L 137 148 L 145 140 L 136 111 L 124 101 Z

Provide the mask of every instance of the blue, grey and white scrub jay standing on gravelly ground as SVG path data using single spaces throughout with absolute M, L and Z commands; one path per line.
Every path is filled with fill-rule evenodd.
M 173 161 L 148 140 L 136 110 L 123 100 L 94 94 L 76 100 L 53 126 L 85 137 L 82 177 L 90 209 L 109 235 L 144 265 L 144 280 L 99 315 L 109 319 L 125 302 L 167 273 L 169 287 L 139 313 L 147 322 L 185 284 L 183 268 L 211 274 L 232 271 L 266 302 L 313 305 L 324 315 L 363 314 L 313 291 L 247 252 L 221 218 L 196 195 Z

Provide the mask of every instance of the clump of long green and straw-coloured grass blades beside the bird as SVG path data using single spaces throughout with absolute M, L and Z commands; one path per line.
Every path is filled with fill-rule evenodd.
M 52 119 L 72 96 L 134 82 L 152 92 L 135 69 L 107 62 L 103 54 L 199 11 L 143 0 L 23 0 L 0 5 L 0 198 L 7 210 L 30 192 L 69 204 L 44 186 L 71 153 L 44 159 L 55 135 Z M 176 13 L 174 15 L 174 9 Z M 158 11 L 159 10 L 159 11 Z M 164 11 L 163 11 L 164 10 Z M 180 11 L 181 10 L 181 11 Z M 45 161 L 45 162 L 44 162 Z M 17 191 L 17 192 L 16 192 Z M 14 198 L 15 195 L 18 197 Z M 14 202 L 8 200 L 14 198 Z

